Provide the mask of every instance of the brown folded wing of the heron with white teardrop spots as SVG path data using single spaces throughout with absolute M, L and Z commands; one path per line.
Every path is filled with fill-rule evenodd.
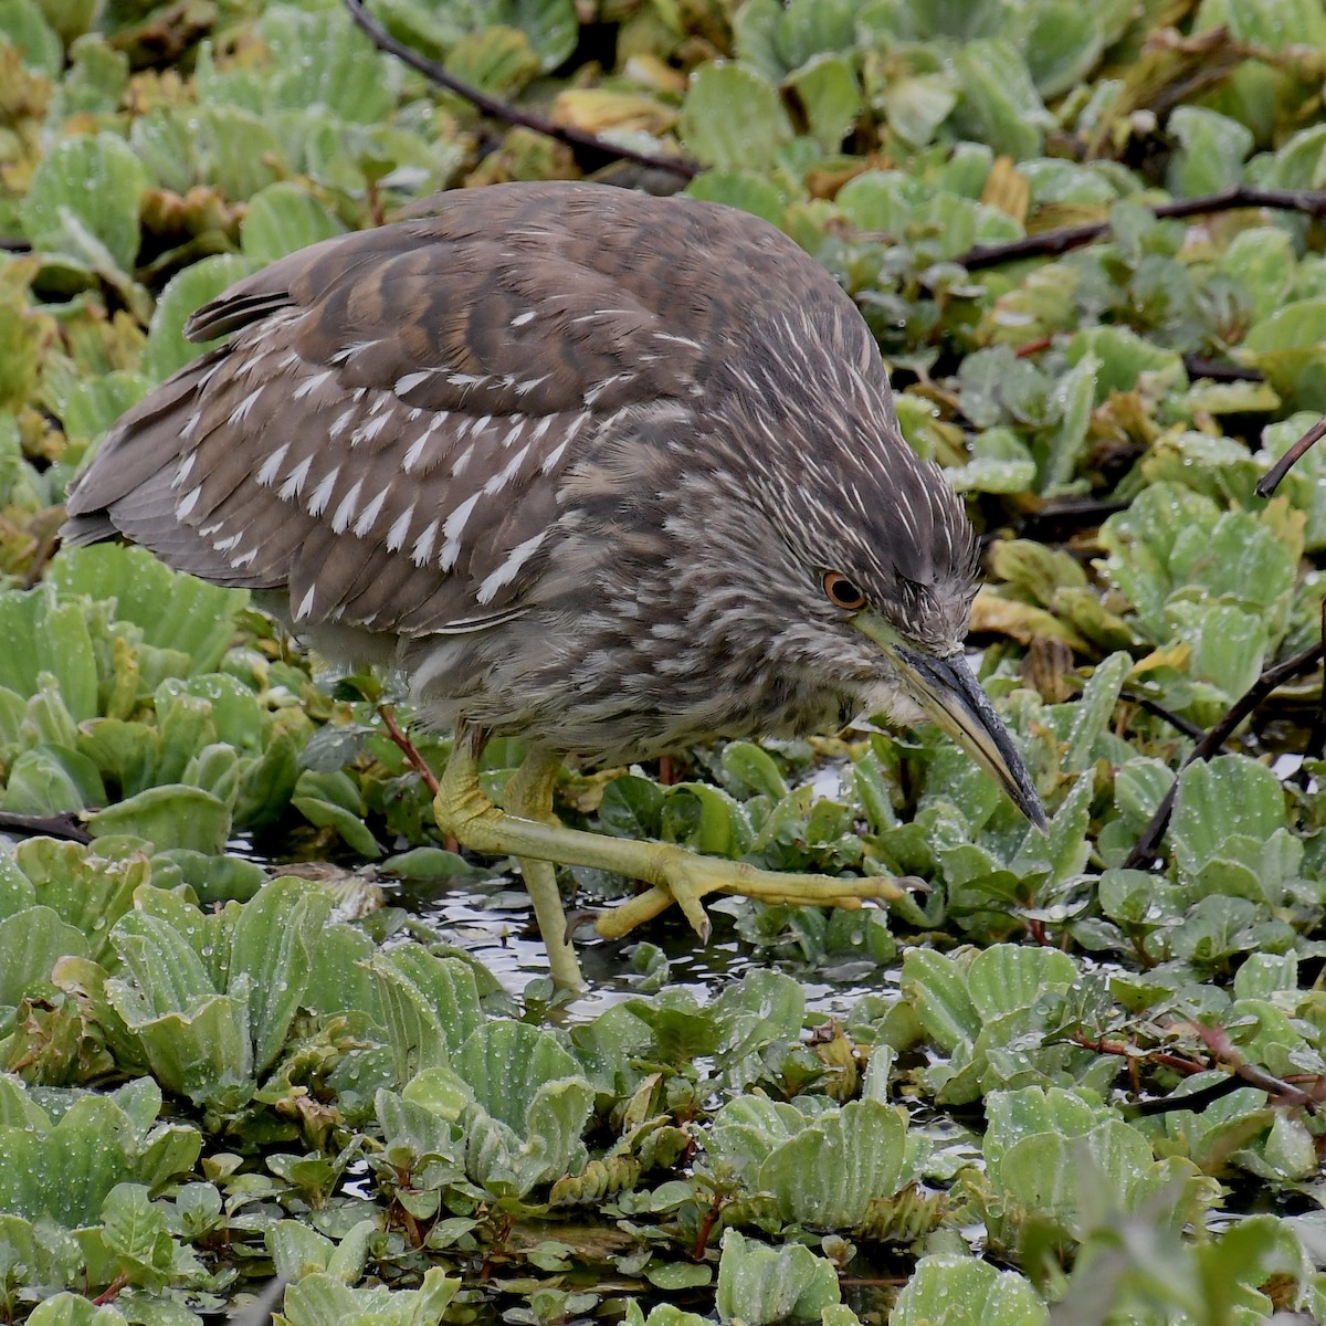
M 296 623 L 501 619 L 562 472 L 622 411 L 697 390 L 700 345 L 591 257 L 471 204 L 282 259 L 195 316 L 196 339 L 231 341 L 115 426 L 68 537 L 288 589 Z

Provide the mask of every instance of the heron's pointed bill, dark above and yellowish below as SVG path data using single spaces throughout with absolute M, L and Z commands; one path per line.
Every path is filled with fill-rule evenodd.
M 998 781 L 1013 805 L 1037 829 L 1045 829 L 1049 825 L 1045 806 L 1026 764 L 967 660 L 960 654 L 941 659 L 900 647 L 890 652 L 902 666 L 908 688 L 922 708 Z

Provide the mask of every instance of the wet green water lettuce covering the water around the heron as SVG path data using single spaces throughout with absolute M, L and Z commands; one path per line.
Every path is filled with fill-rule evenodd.
M 0 0 L 0 1319 L 1326 1317 L 1326 452 L 1257 492 L 1326 408 L 1321 5 L 374 12 L 579 141 L 330 0 Z M 573 1000 L 475 956 L 528 908 L 438 834 L 390 679 L 54 530 L 233 280 L 589 172 L 857 300 L 987 536 L 973 644 L 1052 822 L 928 731 L 566 770 L 569 823 L 928 886 L 719 903 L 729 980 L 671 920 L 587 941 Z M 419 904 L 461 888 L 465 927 Z

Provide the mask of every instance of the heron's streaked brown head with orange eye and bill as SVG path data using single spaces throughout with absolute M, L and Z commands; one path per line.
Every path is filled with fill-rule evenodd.
M 963 652 L 977 575 L 967 512 L 903 440 L 887 386 L 875 408 L 853 406 L 850 392 L 822 400 L 798 463 L 751 480 L 786 552 L 774 574 L 789 656 L 800 647 L 863 713 L 934 721 L 1045 829 L 1030 773 Z

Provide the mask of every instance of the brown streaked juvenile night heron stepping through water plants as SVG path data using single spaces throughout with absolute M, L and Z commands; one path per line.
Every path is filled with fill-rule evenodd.
M 553 976 L 579 971 L 552 862 L 652 884 L 701 934 L 721 888 L 896 898 L 560 827 L 566 756 L 934 719 L 1045 814 L 961 652 L 976 538 L 898 430 L 851 300 L 772 225 L 587 184 L 446 194 L 314 244 L 188 325 L 229 341 L 126 414 L 69 500 L 72 542 L 125 537 L 265 591 L 333 656 L 387 662 L 455 753 L 439 826 L 521 858 Z M 529 754 L 505 810 L 493 735 Z

